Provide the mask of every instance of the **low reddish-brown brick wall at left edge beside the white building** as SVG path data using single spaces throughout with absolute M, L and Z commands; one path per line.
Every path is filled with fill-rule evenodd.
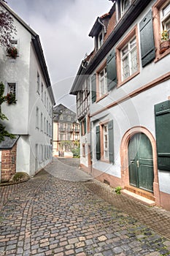
M 16 173 L 17 143 L 12 149 L 1 151 L 1 182 L 9 181 Z

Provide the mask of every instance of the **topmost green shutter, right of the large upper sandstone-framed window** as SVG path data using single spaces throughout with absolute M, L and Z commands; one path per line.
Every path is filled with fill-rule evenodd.
M 151 10 L 147 12 L 147 15 L 139 23 L 139 29 L 141 39 L 142 67 L 144 67 L 150 63 L 152 59 L 155 59 L 155 44 Z

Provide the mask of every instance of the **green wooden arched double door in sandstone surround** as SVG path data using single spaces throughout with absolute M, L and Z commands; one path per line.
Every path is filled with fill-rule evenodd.
M 150 140 L 137 133 L 129 141 L 129 183 L 131 186 L 153 191 L 153 160 Z

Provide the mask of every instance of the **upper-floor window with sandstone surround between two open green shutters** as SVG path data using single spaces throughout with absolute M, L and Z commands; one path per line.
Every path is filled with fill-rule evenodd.
M 117 45 L 117 84 L 121 86 L 139 74 L 139 43 L 137 26 Z

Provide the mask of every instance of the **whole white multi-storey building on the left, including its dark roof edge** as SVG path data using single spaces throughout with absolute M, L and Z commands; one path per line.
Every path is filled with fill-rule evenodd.
M 16 171 L 30 176 L 52 160 L 53 105 L 55 99 L 39 36 L 9 7 L 17 29 L 11 46 L 17 48 L 16 58 L 0 48 L 0 78 L 7 95 L 15 94 L 16 104 L 2 107 L 9 121 L 3 121 L 8 132 L 19 135 Z

